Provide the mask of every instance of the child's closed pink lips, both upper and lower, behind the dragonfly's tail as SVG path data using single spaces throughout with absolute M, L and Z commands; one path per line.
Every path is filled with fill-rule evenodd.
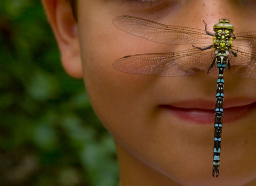
M 160 105 L 181 120 L 196 124 L 214 122 L 215 103 L 206 100 L 188 100 L 171 105 Z M 249 115 L 256 108 L 255 99 L 227 99 L 224 101 L 223 123 L 234 122 Z

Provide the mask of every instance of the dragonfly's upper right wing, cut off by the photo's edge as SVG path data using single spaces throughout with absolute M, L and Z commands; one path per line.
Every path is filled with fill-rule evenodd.
M 256 47 L 256 32 L 242 32 L 235 34 L 233 44 L 237 46 Z

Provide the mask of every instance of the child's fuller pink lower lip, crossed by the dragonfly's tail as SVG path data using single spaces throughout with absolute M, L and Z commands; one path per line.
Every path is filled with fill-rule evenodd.
M 213 109 L 178 108 L 171 105 L 161 105 L 161 108 L 171 111 L 179 119 L 196 124 L 212 124 Z M 250 114 L 256 107 L 256 102 L 250 105 L 229 107 L 223 109 L 223 123 L 234 122 Z

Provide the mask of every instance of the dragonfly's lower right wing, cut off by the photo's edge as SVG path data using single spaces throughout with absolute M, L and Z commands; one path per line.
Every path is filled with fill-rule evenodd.
M 238 51 L 237 57 L 230 57 L 230 69 L 225 71 L 241 78 L 256 80 L 256 54 L 242 48 L 232 49 Z

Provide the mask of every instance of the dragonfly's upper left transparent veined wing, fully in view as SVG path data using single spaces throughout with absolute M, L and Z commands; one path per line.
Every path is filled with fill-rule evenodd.
M 113 24 L 132 35 L 156 43 L 169 45 L 213 44 L 213 37 L 201 29 L 167 26 L 130 15 L 117 16 L 113 19 Z

